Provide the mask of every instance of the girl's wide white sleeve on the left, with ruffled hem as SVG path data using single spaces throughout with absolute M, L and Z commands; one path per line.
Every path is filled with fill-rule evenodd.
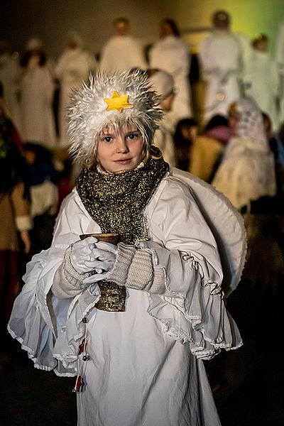
M 84 334 L 82 319 L 99 299 L 83 291 L 74 299 L 60 300 L 50 288 L 65 250 L 80 239 L 92 222 L 73 192 L 62 203 L 50 249 L 33 256 L 23 276 L 25 285 L 16 297 L 8 329 L 36 368 L 75 376 L 78 345 Z M 77 338 L 75 340 L 75 337 Z

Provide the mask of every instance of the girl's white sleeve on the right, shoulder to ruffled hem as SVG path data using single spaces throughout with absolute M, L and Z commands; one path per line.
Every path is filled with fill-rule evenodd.
M 226 312 L 217 244 L 189 188 L 168 182 L 152 221 L 160 226 L 160 244 L 141 243 L 165 270 L 166 291 L 151 294 L 148 313 L 163 331 L 189 343 L 198 358 L 241 346 L 239 330 Z

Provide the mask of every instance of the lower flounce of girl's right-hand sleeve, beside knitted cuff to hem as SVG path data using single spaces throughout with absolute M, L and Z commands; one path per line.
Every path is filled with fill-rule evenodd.
M 203 271 L 189 251 L 168 251 L 152 241 L 141 246 L 152 249 L 157 265 L 165 269 L 166 292 L 151 294 L 148 307 L 149 315 L 162 322 L 163 332 L 190 343 L 192 354 L 202 359 L 241 346 L 239 330 L 224 305 L 222 276 Z

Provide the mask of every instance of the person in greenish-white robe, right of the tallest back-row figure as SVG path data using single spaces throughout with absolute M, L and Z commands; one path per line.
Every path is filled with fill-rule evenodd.
M 271 117 L 273 129 L 278 128 L 276 98 L 279 90 L 279 76 L 276 62 L 268 53 L 268 37 L 259 35 L 252 42 L 251 58 L 244 69 L 244 89 L 258 107 Z

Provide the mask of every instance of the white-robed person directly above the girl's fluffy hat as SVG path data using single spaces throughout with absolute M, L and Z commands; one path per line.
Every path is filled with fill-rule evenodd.
M 146 70 L 146 59 L 140 41 L 130 34 L 130 23 L 126 18 L 114 21 L 115 35 L 102 48 L 99 61 L 101 70 L 123 71 L 131 68 Z

